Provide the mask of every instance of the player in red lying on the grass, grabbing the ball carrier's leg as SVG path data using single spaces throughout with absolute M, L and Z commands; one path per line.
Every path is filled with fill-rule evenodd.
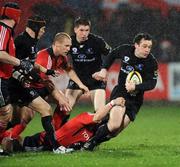
M 115 106 L 124 107 L 124 98 L 118 97 L 96 113 L 84 112 L 56 130 L 56 138 L 60 145 L 80 149 L 83 143 L 87 142 L 96 132 L 97 128 L 103 122 L 103 118 Z M 8 131 L 1 134 L 2 147 L 5 151 L 42 151 L 52 150 L 51 144 L 46 140 L 46 132 L 37 133 L 33 136 L 27 136 L 24 139 L 12 140 L 8 136 Z M 17 147 L 18 146 L 18 147 Z

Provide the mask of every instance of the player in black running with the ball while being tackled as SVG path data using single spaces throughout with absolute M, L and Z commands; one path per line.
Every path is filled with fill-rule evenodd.
M 107 140 L 106 137 L 116 136 L 131 121 L 135 120 L 136 114 L 143 104 L 145 91 L 152 90 L 157 83 L 158 64 L 151 52 L 152 37 L 147 33 L 139 33 L 134 38 L 134 45 L 124 44 L 112 50 L 104 61 L 101 71 L 93 75 L 97 80 L 106 78 L 107 69 L 115 59 L 121 59 L 121 69 L 118 77 L 118 84 L 114 87 L 110 100 L 123 97 L 125 107 L 115 106 L 110 111 L 108 123 L 102 125 L 96 135 L 84 145 L 84 149 L 93 150 L 94 147 Z M 135 85 L 133 82 L 126 82 L 126 77 L 131 71 L 138 71 L 143 82 Z M 137 93 L 132 93 L 136 91 Z

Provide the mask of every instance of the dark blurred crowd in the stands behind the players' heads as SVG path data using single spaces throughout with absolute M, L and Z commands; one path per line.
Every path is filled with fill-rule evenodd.
M 131 43 L 138 32 L 155 39 L 153 53 L 160 62 L 180 61 L 180 0 L 16 0 L 23 9 L 21 27 L 32 13 L 43 16 L 47 29 L 39 48 L 47 47 L 55 33 L 73 32 L 73 21 L 88 17 L 92 32 L 102 36 L 113 48 Z M 0 2 L 3 3 L 3 2 Z

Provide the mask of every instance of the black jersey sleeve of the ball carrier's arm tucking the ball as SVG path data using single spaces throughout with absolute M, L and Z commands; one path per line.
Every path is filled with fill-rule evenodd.
M 146 67 L 144 81 L 136 85 L 136 90 L 147 91 L 155 88 L 158 78 L 158 63 L 153 59 Z

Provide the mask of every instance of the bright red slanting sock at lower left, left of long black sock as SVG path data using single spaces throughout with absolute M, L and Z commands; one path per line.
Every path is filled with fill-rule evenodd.
M 20 123 L 15 125 L 11 130 L 11 137 L 16 139 L 26 128 L 26 123 Z

